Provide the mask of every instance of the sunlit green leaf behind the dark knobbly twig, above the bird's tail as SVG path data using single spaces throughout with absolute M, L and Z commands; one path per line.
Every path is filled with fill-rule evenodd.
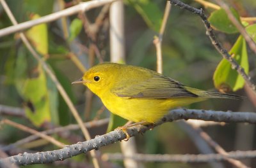
M 229 52 L 230 55 L 237 61 L 237 63 L 244 68 L 246 74 L 249 71 L 248 55 L 246 50 L 246 41 L 242 36 L 239 36 L 236 43 Z M 243 88 L 244 79 L 232 69 L 230 63 L 226 59 L 222 59 L 213 76 L 214 86 L 221 92 L 228 92 L 229 90 L 236 91 Z

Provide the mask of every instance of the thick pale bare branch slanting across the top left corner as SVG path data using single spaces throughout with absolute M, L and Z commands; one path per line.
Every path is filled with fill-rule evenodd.
M 46 15 L 44 17 L 40 17 L 35 20 L 30 20 L 27 22 L 23 22 L 22 24 L 12 25 L 10 27 L 6 27 L 4 29 L 0 30 L 0 37 L 6 36 L 8 34 L 12 34 L 13 32 L 19 32 L 24 31 L 25 29 L 28 29 L 29 27 L 33 27 L 34 25 L 38 24 L 44 24 L 48 22 L 52 22 L 54 20 L 57 20 L 61 17 L 68 17 L 70 15 L 74 15 L 76 13 L 79 13 L 80 11 L 88 11 L 93 8 L 97 8 L 99 6 L 102 6 L 104 4 L 113 3 L 116 0 L 94 0 L 94 1 L 88 1 L 85 3 L 77 4 L 76 6 L 72 6 L 70 8 L 67 8 L 65 10 L 58 11 L 56 13 L 52 13 L 49 15 Z

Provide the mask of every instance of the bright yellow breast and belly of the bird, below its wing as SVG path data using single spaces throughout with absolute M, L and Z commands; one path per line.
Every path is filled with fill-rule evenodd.
M 204 98 L 173 98 L 173 99 L 126 99 L 115 94 L 108 93 L 108 96 L 100 96 L 106 108 L 132 122 L 156 123 L 168 110 L 204 101 Z

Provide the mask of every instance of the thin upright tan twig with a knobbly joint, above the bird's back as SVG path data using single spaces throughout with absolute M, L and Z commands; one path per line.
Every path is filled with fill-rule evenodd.
M 157 55 L 157 72 L 158 73 L 163 73 L 163 56 L 162 56 L 162 41 L 163 41 L 163 34 L 164 34 L 164 29 L 166 27 L 166 23 L 169 17 L 169 13 L 171 10 L 171 4 L 167 1 L 165 10 L 164 10 L 164 17 L 163 17 L 163 22 L 161 24 L 161 28 L 159 31 L 159 35 L 154 38 L 154 45 L 156 46 L 156 55 Z

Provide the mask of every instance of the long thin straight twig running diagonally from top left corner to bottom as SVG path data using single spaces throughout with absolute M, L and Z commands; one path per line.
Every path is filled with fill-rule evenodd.
M 99 0 L 100 1 L 100 0 Z M 8 7 L 8 5 L 6 4 L 6 2 L 4 0 L 0 0 L 1 4 L 3 5 L 4 10 L 6 11 L 8 17 L 10 18 L 10 20 L 12 21 L 13 25 L 17 25 L 17 21 L 15 20 L 12 11 L 10 11 L 10 8 Z M 83 8 L 83 10 L 86 8 Z M 38 55 L 38 53 L 35 52 L 35 50 L 33 49 L 33 47 L 30 45 L 28 39 L 26 38 L 26 36 L 24 35 L 24 33 L 20 32 L 20 38 L 22 39 L 23 43 L 26 45 L 26 47 L 28 48 L 29 52 L 31 52 L 31 54 L 33 55 L 33 57 L 35 57 L 36 60 L 38 60 L 38 62 L 40 64 L 42 64 L 42 66 L 44 67 L 45 72 L 50 76 L 51 80 L 55 83 L 56 87 L 58 88 L 60 94 L 62 95 L 63 99 L 65 100 L 65 102 L 68 105 L 68 108 L 70 109 L 70 111 L 72 112 L 72 115 L 74 116 L 74 118 L 76 119 L 77 123 L 79 124 L 79 126 L 81 127 L 81 130 L 84 134 L 85 139 L 91 139 L 90 134 L 88 132 L 88 130 L 86 129 L 86 127 L 84 127 L 83 125 L 83 120 L 80 118 L 79 114 L 77 113 L 76 108 L 74 107 L 74 104 L 72 103 L 72 101 L 70 100 L 70 98 L 67 95 L 67 92 L 65 92 L 64 88 L 61 86 L 60 81 L 58 81 L 58 79 L 56 78 L 56 76 L 54 75 L 54 73 L 52 73 L 51 69 L 49 68 L 48 64 L 40 57 L 40 55 Z M 92 155 L 93 158 L 93 162 L 95 162 L 96 155 L 95 155 L 95 151 L 90 151 L 90 154 Z

